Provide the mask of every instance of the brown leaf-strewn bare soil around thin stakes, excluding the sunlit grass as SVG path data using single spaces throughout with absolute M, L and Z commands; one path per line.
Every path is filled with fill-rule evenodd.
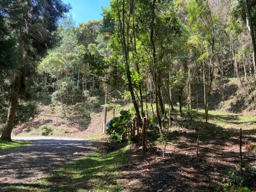
M 177 141 L 169 142 L 163 158 L 163 146 L 148 150 L 134 147 L 129 154 L 127 166 L 123 170 L 125 191 L 217 191 L 225 182 L 227 169 L 239 169 L 239 132 L 234 130 L 230 137 L 221 139 L 221 132 L 209 133 L 210 139 L 199 142 L 199 158 L 196 164 L 196 137 L 193 131 L 172 131 L 181 135 Z M 195 133 L 196 134 L 196 133 Z M 254 140 L 251 135 L 243 135 L 243 143 Z M 152 151 L 152 152 L 150 152 Z M 255 151 L 243 145 L 243 159 L 256 167 Z

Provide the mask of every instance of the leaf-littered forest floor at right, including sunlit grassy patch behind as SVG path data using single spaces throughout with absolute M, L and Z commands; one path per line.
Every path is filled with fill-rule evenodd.
M 243 155 L 254 158 L 244 158 L 243 163 L 256 168 L 253 115 L 210 111 L 208 124 L 202 119 L 203 110 L 199 110 L 199 115 L 195 120 L 175 118 L 164 158 L 163 145 L 159 142 L 145 154 L 138 147 L 131 150 L 122 172 L 127 191 L 222 191 L 220 186 L 227 182 L 227 170 L 239 170 L 240 128 Z M 198 127 L 199 158 L 195 166 Z

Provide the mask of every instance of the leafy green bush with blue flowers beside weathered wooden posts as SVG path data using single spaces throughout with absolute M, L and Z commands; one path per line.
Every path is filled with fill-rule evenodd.
M 132 117 L 128 110 L 122 110 L 120 114 L 121 116 L 114 117 L 107 124 L 107 134 L 110 135 L 111 139 L 118 142 L 124 140 Z

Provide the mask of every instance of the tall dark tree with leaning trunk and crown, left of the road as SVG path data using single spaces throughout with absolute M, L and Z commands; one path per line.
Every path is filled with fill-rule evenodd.
M 11 132 L 17 110 L 19 94 L 25 89 L 29 70 L 34 68 L 38 55 L 52 47 L 51 33 L 57 29 L 57 21 L 69 10 L 69 5 L 59 0 L 47 2 L 10 1 L 3 7 L 5 19 L 17 38 L 19 67 L 14 74 L 7 120 L 1 135 L 2 140 L 11 141 Z

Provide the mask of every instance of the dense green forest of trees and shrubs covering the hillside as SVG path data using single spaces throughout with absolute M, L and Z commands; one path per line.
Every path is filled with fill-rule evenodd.
M 106 98 L 102 107 L 114 110 L 107 133 L 118 142 L 127 139 L 132 118 L 141 127 L 147 117 L 148 140 L 160 141 L 171 115 L 213 129 L 211 109 L 255 110 L 255 1 L 110 0 L 102 20 L 78 26 L 70 8 L 60 0 L 0 2 L 2 140 L 39 114 L 38 103 L 61 106 L 69 119 L 69 106 L 100 108 Z M 227 107 L 238 87 L 241 95 Z M 132 107 L 115 117 L 116 102 Z

